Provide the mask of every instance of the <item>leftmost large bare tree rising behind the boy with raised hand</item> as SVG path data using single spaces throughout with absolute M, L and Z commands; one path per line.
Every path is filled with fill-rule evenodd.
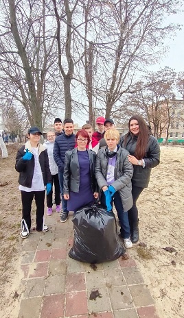
M 16 100 L 25 109 L 30 125 L 42 129 L 58 88 L 55 38 L 47 8 L 45 1 L 36 0 L 8 0 L 8 5 L 1 5 L 1 93 L 3 99 Z

